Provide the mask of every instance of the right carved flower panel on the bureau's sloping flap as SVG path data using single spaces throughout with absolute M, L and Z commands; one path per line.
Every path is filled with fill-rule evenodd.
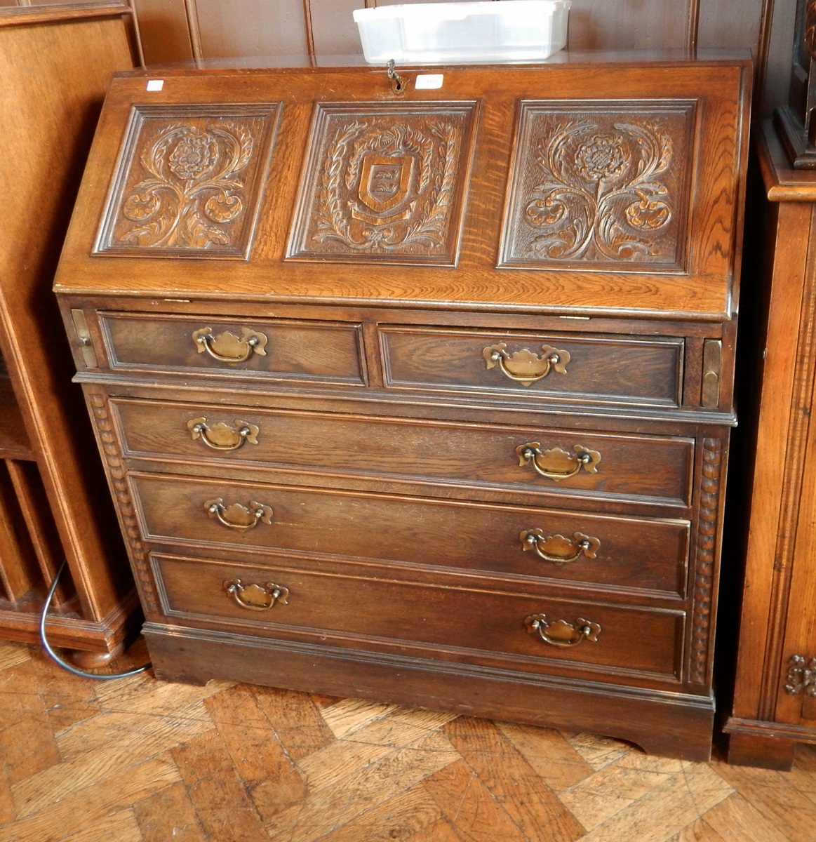
M 520 106 L 499 266 L 683 271 L 695 103 Z

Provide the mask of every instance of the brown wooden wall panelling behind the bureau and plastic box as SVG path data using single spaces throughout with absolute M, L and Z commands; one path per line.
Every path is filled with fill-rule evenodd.
M 0 0 L 0 5 L 9 0 Z M 195 58 L 360 53 L 355 8 L 406 0 L 132 0 L 148 65 Z M 421 3 L 424 0 L 407 0 Z M 756 62 L 755 113 L 787 100 L 794 3 L 744 0 L 573 0 L 570 50 L 743 48 Z

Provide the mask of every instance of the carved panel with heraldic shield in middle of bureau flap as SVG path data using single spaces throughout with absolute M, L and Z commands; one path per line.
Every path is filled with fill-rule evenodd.
M 456 264 L 475 109 L 318 105 L 287 257 Z

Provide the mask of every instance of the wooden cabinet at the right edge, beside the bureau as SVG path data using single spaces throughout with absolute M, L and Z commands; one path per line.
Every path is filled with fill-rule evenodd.
M 728 760 L 790 768 L 816 741 L 813 274 L 816 172 L 792 168 L 775 125 L 757 136 L 765 190 L 766 335 Z M 758 296 L 760 297 L 760 296 Z

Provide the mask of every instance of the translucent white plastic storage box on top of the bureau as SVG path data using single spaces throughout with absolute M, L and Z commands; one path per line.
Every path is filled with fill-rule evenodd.
M 365 61 L 535 61 L 567 43 L 570 0 L 488 0 L 358 8 Z

